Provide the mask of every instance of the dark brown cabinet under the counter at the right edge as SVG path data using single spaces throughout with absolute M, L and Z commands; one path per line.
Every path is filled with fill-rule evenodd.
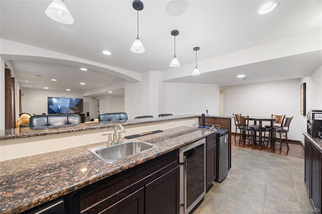
M 304 147 L 304 182 L 309 191 L 309 197 L 317 213 L 321 213 L 321 172 L 322 172 L 322 153 L 315 147 L 314 143 L 305 136 Z

